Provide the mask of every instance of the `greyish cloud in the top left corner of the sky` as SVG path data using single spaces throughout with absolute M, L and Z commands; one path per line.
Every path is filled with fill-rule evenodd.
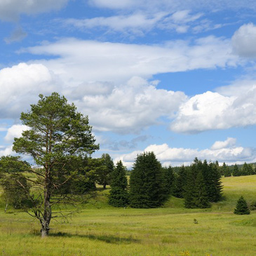
M 33 15 L 51 10 L 58 10 L 65 6 L 69 0 L 1 0 L 0 19 L 17 20 L 20 14 Z

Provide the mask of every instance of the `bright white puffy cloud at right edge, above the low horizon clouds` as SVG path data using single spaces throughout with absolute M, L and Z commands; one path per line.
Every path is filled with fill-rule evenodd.
M 251 86 L 245 83 L 245 86 L 234 88 L 229 86 L 220 91 L 228 96 L 207 92 L 184 102 L 170 129 L 177 133 L 200 133 L 256 124 L 256 83 Z

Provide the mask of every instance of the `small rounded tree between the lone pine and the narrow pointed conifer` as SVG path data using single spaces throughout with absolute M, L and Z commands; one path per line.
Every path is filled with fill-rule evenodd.
M 102 154 L 102 166 L 97 170 L 97 183 L 106 189 L 106 186 L 110 184 L 111 175 L 114 171 L 114 162 L 109 154 Z

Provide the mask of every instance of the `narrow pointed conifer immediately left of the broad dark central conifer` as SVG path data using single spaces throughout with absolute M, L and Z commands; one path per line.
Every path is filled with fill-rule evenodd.
M 126 168 L 123 166 L 122 161 L 116 163 L 110 186 L 109 204 L 115 207 L 128 206 L 128 182 L 126 178 Z

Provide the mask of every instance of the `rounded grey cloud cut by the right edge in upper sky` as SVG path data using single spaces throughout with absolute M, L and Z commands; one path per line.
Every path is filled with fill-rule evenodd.
M 256 57 L 256 26 L 252 23 L 241 26 L 232 37 L 234 53 L 245 58 Z

